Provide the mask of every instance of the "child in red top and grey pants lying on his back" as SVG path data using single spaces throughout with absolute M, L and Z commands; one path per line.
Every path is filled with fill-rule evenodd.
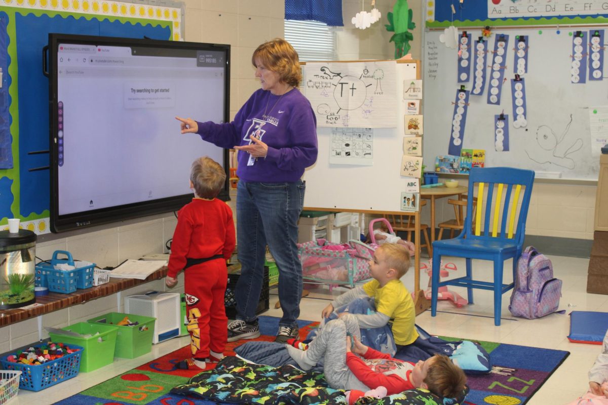
M 302 347 L 300 342 L 294 344 Z M 447 356 L 435 355 L 414 364 L 362 344 L 358 322 L 350 314 L 328 322 L 306 350 L 290 344 L 286 347 L 302 370 L 311 369 L 324 358 L 323 373 L 330 387 L 352 390 L 349 405 L 379 386 L 387 389 L 387 395 L 424 388 L 440 397 L 453 398 L 466 384 L 463 370 Z

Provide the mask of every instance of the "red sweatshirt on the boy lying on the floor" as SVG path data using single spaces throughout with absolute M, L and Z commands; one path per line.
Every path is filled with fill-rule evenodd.
M 346 364 L 354 376 L 370 389 L 384 386 L 387 395 L 392 395 L 415 388 L 410 382 L 410 374 L 415 366 L 412 362 L 394 359 L 371 347 L 368 347 L 363 358 L 347 352 Z M 359 390 L 352 390 L 348 403 L 353 404 L 363 395 L 364 393 Z

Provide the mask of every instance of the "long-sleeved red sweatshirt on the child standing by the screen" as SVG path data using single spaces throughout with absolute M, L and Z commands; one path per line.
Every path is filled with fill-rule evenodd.
M 235 244 L 232 209 L 218 199 L 192 199 L 178 211 L 167 276 L 177 277 L 186 258 L 205 259 L 221 254 L 228 260 Z

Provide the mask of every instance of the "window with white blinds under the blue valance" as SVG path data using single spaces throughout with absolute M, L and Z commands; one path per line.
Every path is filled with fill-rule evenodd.
M 297 51 L 300 61 L 336 60 L 336 33 L 324 22 L 286 19 L 285 39 Z

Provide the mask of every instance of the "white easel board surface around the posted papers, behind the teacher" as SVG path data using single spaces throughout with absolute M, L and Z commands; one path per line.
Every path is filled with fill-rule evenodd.
M 373 162 L 371 165 L 330 163 L 333 128 L 317 128 L 319 155 L 306 169 L 304 206 L 319 209 L 351 211 L 394 211 L 401 207 L 401 192 L 410 177 L 402 177 L 404 111 L 403 82 L 420 78 L 418 61 L 396 62 L 395 128 L 373 129 Z

